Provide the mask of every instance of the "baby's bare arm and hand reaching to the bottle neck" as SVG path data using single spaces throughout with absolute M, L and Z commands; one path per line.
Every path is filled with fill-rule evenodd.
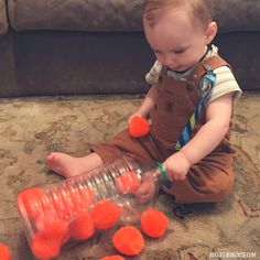
M 191 165 L 209 154 L 224 139 L 230 124 L 232 94 L 213 100 L 206 108 L 206 123 L 178 152 L 163 163 L 170 181 L 184 180 Z

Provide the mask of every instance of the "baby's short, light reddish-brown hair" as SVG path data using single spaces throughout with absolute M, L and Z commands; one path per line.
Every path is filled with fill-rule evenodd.
M 144 0 L 143 19 L 153 26 L 165 11 L 180 7 L 187 8 L 204 26 L 213 21 L 210 0 Z

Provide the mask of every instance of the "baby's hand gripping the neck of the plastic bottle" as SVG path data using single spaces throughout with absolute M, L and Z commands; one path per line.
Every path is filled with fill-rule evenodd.
M 176 152 L 164 161 L 163 166 L 171 182 L 183 181 L 188 173 L 191 163 L 182 152 Z

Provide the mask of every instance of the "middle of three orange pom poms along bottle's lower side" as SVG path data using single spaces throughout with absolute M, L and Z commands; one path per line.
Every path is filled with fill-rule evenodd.
M 75 239 L 87 239 L 95 232 L 95 226 L 89 213 L 77 216 L 68 226 L 69 235 Z

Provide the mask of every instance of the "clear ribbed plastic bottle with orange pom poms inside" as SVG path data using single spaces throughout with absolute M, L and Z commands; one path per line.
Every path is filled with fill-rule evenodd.
M 147 169 L 134 158 L 120 156 L 73 178 L 18 194 L 23 230 L 36 259 L 52 259 L 71 240 L 96 230 L 138 221 L 154 203 L 164 182 L 162 164 Z M 140 191 L 147 188 L 145 196 Z

